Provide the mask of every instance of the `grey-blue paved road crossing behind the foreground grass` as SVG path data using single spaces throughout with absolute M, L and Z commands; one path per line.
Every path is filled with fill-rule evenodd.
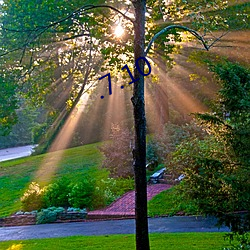
M 227 227 L 218 229 L 214 218 L 195 216 L 150 218 L 150 233 L 167 232 L 228 232 Z M 62 224 L 47 224 L 21 227 L 0 228 L 0 241 L 24 240 L 38 238 L 56 238 L 73 235 L 110 235 L 134 234 L 135 221 L 110 220 L 95 222 L 76 222 Z

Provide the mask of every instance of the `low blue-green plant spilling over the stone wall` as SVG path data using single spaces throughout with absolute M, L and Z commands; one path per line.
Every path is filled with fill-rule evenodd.
M 59 213 L 64 212 L 62 207 L 49 207 L 37 213 L 36 224 L 55 222 Z

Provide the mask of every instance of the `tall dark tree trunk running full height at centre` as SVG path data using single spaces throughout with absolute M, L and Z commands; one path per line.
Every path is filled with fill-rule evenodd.
M 133 1 L 135 7 L 134 22 L 134 59 L 144 57 L 146 0 Z M 144 61 L 138 61 L 144 72 Z M 144 76 L 134 68 L 132 103 L 134 107 L 135 147 L 133 149 L 135 173 L 135 216 L 136 216 L 136 249 L 149 250 L 147 218 L 147 180 L 146 180 L 146 117 L 144 102 Z

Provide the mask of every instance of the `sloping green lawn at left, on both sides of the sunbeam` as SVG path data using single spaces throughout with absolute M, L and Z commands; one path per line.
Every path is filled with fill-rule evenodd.
M 102 160 L 98 145 L 95 143 L 65 150 L 51 181 L 62 176 L 79 181 L 86 174 L 106 177 L 107 172 L 98 168 Z M 53 157 L 57 153 L 50 154 Z M 0 163 L 0 217 L 21 209 L 20 197 L 30 182 L 37 181 L 35 174 L 45 157 L 46 154 Z

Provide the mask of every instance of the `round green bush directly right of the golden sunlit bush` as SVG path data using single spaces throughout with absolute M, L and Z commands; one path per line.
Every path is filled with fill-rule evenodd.
M 71 191 L 70 181 L 66 178 L 61 178 L 58 181 L 48 185 L 44 192 L 45 207 L 68 207 L 69 193 Z

